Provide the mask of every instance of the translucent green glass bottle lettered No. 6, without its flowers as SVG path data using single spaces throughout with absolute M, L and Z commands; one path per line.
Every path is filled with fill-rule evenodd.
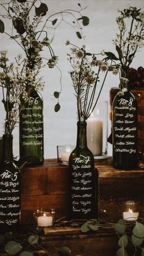
M 20 112 L 20 160 L 29 165 L 42 164 L 43 98 L 33 90 Z

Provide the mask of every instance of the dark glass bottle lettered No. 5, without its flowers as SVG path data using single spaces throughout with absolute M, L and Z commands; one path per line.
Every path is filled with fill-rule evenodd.
M 12 135 L 2 137 L 0 164 L 0 232 L 18 230 L 20 225 L 21 176 L 13 163 Z

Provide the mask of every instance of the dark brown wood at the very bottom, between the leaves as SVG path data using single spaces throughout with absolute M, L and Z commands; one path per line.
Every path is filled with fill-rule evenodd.
M 39 244 L 41 246 L 41 253 L 39 252 L 38 255 L 43 255 L 43 248 L 46 247 L 49 256 L 54 256 L 56 255 L 56 247 L 59 246 L 68 246 L 71 250 L 71 256 L 116 255 L 119 238 L 112 228 L 103 228 L 94 233 L 82 233 L 80 228 L 74 227 L 64 227 L 62 229 L 64 230 L 63 232 L 54 233 L 53 229 L 47 228 L 47 235 L 40 235 Z M 129 255 L 133 255 L 131 250 L 132 247 L 129 246 Z M 7 254 L 0 251 L 0 256 L 7 256 Z

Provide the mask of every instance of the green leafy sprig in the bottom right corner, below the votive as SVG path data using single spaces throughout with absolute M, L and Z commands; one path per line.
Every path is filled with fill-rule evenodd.
M 128 256 L 128 241 L 131 243 L 133 253 L 129 256 L 144 255 L 144 219 L 139 218 L 135 222 L 124 221 L 119 219 L 117 223 L 101 223 L 97 219 L 90 219 L 81 226 L 81 232 L 86 233 L 90 230 L 98 231 L 99 229 L 113 229 L 118 235 L 117 256 Z M 138 254 L 137 254 L 138 253 Z

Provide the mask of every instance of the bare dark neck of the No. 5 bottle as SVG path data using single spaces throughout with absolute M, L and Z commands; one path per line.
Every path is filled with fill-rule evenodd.
M 12 141 L 12 135 L 2 136 L 2 161 L 13 161 Z

